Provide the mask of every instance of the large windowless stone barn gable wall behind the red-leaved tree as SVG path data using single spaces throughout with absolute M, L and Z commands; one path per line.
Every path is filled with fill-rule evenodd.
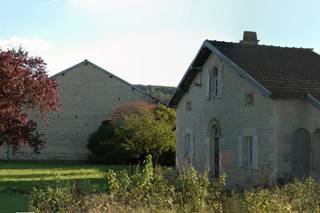
M 127 102 L 158 100 L 97 65 L 84 60 L 51 78 L 59 85 L 61 107 L 48 119 L 33 116 L 46 141 L 45 149 L 34 154 L 23 147 L 9 156 L 16 160 L 86 160 L 89 136 L 117 107 Z M 1 147 L 0 159 L 7 159 Z

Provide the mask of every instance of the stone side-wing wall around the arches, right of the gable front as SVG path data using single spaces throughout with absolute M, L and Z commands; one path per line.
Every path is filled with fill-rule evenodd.
M 278 177 L 292 175 L 294 133 L 296 130 L 305 129 L 310 135 L 311 152 L 304 153 L 301 150 L 300 154 L 310 155 L 310 175 L 319 178 L 320 140 L 316 132 L 320 129 L 320 110 L 307 100 L 274 100 L 273 107 L 277 118 L 274 126 L 278 144 Z

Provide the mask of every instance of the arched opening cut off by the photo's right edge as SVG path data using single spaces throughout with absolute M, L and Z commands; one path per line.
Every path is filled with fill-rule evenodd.
M 314 131 L 311 142 L 311 173 L 320 177 L 320 129 Z

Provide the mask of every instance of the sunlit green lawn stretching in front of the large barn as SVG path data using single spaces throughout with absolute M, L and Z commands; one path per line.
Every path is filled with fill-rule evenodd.
M 83 186 L 96 185 L 103 189 L 108 169 L 124 166 L 80 163 L 7 162 L 0 161 L 0 212 L 25 211 L 28 193 L 34 187 L 79 180 Z

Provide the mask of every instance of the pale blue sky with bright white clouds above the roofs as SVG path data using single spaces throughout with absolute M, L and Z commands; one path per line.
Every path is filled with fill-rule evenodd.
M 319 0 L 0 0 L 0 47 L 49 75 L 84 59 L 133 84 L 177 86 L 206 39 L 320 53 Z

